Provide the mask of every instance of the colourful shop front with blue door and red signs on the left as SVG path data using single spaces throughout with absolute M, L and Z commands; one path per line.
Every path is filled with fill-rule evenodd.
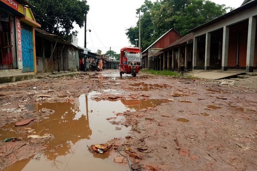
M 0 0 L 0 70 L 35 71 L 34 28 L 41 27 L 26 1 Z

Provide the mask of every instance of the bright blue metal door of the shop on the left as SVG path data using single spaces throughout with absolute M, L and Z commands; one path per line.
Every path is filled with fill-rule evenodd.
M 32 48 L 32 33 L 31 31 L 21 28 L 21 50 L 22 50 L 22 65 L 23 72 L 33 72 L 33 48 Z

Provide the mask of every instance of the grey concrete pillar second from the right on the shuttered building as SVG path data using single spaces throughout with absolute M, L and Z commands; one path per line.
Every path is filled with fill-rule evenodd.
M 223 41 L 222 41 L 222 71 L 228 70 L 228 39 L 229 39 L 229 26 L 223 27 Z

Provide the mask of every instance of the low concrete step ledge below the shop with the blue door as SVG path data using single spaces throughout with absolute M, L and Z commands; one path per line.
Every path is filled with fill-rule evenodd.
M 19 74 L 5 74 L 0 75 L 0 84 L 17 82 L 22 80 L 34 79 L 36 74 L 34 73 L 19 73 Z

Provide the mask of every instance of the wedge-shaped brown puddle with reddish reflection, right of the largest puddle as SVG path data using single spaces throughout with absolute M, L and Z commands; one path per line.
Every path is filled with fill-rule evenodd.
M 140 109 L 146 109 L 147 107 L 155 107 L 160 105 L 161 103 L 168 103 L 171 100 L 168 99 L 150 99 L 150 100 L 129 100 L 129 99 L 121 99 L 121 103 L 127 106 L 130 111 L 138 111 Z

